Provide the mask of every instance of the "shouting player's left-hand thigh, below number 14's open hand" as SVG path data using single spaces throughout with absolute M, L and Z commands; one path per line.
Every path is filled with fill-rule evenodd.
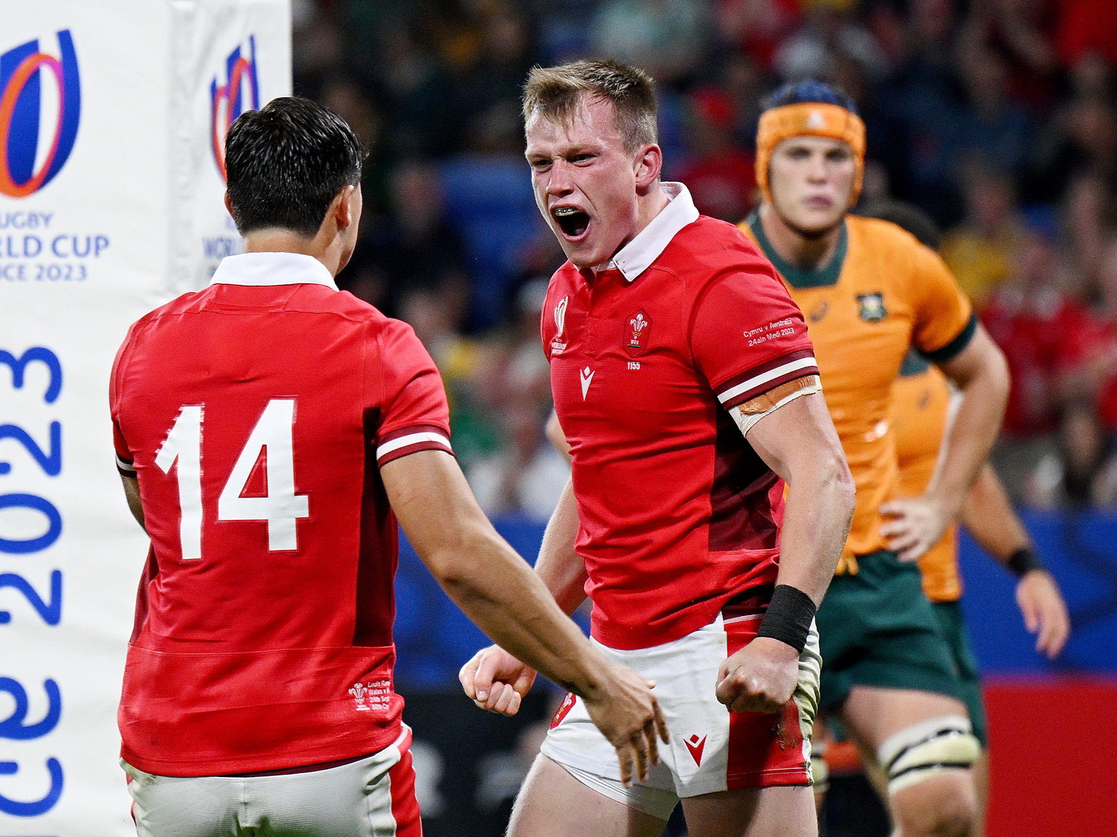
M 508 837 L 659 837 L 666 826 L 541 754 L 516 797 Z

